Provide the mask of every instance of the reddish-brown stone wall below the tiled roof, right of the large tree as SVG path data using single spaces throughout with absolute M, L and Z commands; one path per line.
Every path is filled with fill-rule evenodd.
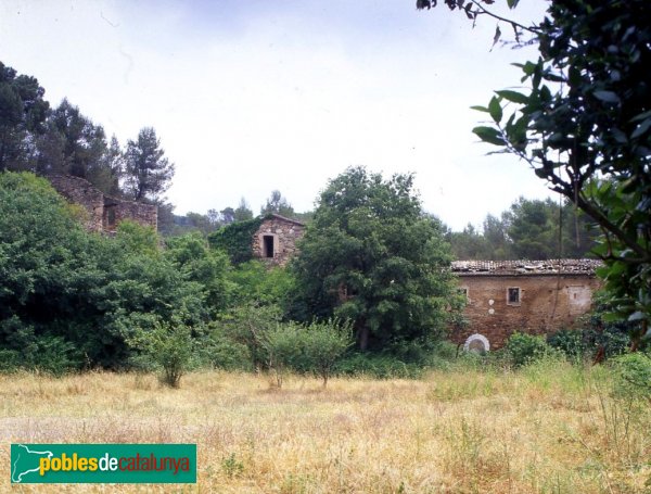
M 483 334 L 490 349 L 502 346 L 513 332 L 545 334 L 571 328 L 591 308 L 592 293 L 600 282 L 591 275 L 460 275 L 467 290 L 467 328 L 454 331 L 463 343 L 471 334 Z M 508 289 L 520 288 L 520 303 L 509 304 Z

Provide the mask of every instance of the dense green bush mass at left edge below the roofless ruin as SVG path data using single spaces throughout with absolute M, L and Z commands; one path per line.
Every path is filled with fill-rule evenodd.
M 129 365 L 135 328 L 207 322 L 228 300 L 228 262 L 192 237 L 163 252 L 151 228 L 123 221 L 115 238 L 86 231 L 47 180 L 0 174 L 0 350 L 61 373 Z

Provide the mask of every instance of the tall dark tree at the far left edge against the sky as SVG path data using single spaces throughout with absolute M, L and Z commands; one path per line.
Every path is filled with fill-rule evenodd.
M 44 131 L 49 103 L 38 80 L 0 62 L 0 172 L 23 169 L 29 137 Z

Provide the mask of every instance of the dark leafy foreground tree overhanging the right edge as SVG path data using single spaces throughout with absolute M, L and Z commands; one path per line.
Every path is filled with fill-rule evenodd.
M 651 3 L 559 0 L 520 65 L 526 92 L 496 91 L 474 132 L 525 160 L 589 215 L 613 314 L 651 335 Z

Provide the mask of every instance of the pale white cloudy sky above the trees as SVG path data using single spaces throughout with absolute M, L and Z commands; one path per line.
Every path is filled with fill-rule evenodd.
M 349 165 L 414 172 L 425 210 L 454 229 L 548 197 L 526 164 L 487 156 L 471 132 L 484 114 L 470 106 L 516 87 L 510 63 L 535 50 L 489 51 L 494 21 L 473 29 L 445 5 L 414 4 L 2 0 L 0 60 L 123 144 L 153 126 L 177 165 L 177 214 L 241 197 L 257 213 L 272 189 L 311 210 Z M 540 18 L 545 5 L 521 0 L 508 15 Z

